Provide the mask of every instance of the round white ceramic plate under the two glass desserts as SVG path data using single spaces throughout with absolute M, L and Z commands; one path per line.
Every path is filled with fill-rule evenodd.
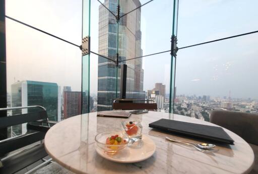
M 136 142 L 118 151 L 114 155 L 107 155 L 103 150 L 96 148 L 96 146 L 95 148 L 100 156 L 110 161 L 121 163 L 139 162 L 151 157 L 156 150 L 156 145 L 149 136 L 143 135 L 142 140 L 141 143 Z

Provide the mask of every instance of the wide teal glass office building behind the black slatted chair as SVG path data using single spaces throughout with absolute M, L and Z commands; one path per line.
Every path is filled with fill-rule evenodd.
M 43 106 L 49 120 L 60 121 L 61 101 L 60 88 L 56 83 L 41 81 L 18 81 L 11 85 L 11 107 L 19 106 Z M 12 111 L 12 115 L 25 114 L 33 109 L 22 109 Z M 14 134 L 26 132 L 26 124 L 12 126 Z

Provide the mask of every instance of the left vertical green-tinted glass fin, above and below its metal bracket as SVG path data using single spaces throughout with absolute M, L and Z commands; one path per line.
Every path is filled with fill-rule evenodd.
M 90 36 L 91 1 L 83 0 L 82 38 Z M 90 112 L 90 54 L 82 56 L 82 100 L 81 113 Z

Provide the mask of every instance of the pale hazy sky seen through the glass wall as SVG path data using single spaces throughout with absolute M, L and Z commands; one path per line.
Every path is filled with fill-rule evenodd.
M 102 1 L 103 2 L 103 1 Z M 141 1 L 144 4 L 145 1 Z M 98 52 L 98 7 L 91 1 L 91 50 Z M 179 0 L 178 47 L 258 30 L 256 0 Z M 154 0 L 141 9 L 143 55 L 170 49 L 171 0 Z M 6 14 L 81 45 L 82 1 L 6 0 Z M 6 19 L 8 91 L 17 80 L 56 82 L 81 90 L 78 47 Z M 258 34 L 181 49 L 176 60 L 177 95 L 258 99 Z M 90 93 L 97 93 L 98 56 L 91 55 Z M 143 58 L 144 90 L 155 82 L 169 93 L 168 53 Z

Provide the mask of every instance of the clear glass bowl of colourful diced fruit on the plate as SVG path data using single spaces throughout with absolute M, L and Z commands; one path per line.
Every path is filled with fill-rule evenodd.
M 127 146 L 129 137 L 122 132 L 102 132 L 95 136 L 96 147 L 113 155 Z

